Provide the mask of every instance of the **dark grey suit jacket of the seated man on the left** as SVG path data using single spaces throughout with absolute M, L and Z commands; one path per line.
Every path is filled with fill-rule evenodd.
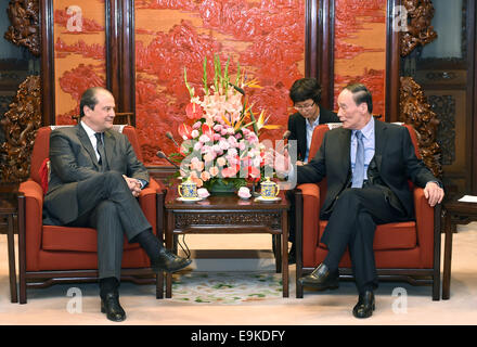
M 109 170 L 149 182 L 147 170 L 138 160 L 125 134 L 105 131 L 104 150 Z M 101 175 L 95 151 L 81 125 L 51 132 L 50 160 L 51 178 L 44 197 L 43 219 L 49 223 L 66 224 L 78 218 L 78 182 Z

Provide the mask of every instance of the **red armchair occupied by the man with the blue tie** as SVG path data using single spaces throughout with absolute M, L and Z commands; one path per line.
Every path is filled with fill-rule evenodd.
M 404 125 L 421 157 L 417 138 L 411 126 Z M 323 141 L 327 125 L 314 129 L 310 157 Z M 376 269 L 379 280 L 407 281 L 413 285 L 431 285 L 433 299 L 439 300 L 440 291 L 440 205 L 430 207 L 424 190 L 415 188 L 415 221 L 377 226 L 374 239 Z M 327 223 L 320 220 L 319 210 L 326 194 L 326 179 L 322 182 L 297 187 L 296 198 L 296 297 L 302 298 L 304 288 L 298 279 L 318 267 L 327 254 L 326 246 L 319 242 Z M 348 252 L 339 264 L 339 277 L 352 278 Z

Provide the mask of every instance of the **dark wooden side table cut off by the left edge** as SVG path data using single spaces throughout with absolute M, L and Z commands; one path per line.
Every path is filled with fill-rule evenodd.
M 7 244 L 9 250 L 9 278 L 10 278 L 10 297 L 12 303 L 18 303 L 16 285 L 16 258 L 15 258 L 15 230 L 17 230 L 17 206 L 16 198 L 10 200 L 1 194 L 0 198 L 0 224 L 7 227 Z M 16 195 L 15 195 L 16 196 Z

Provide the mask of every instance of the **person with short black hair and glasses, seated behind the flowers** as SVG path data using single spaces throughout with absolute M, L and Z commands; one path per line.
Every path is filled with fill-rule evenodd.
M 288 143 L 296 141 L 297 165 L 308 162 L 313 130 L 320 124 L 338 123 L 336 113 L 320 106 L 321 86 L 315 78 L 297 79 L 289 89 L 289 99 L 297 111 L 288 118 Z M 287 198 L 291 201 L 288 214 L 288 241 L 292 243 L 288 262 L 295 264 L 295 195 L 289 191 Z

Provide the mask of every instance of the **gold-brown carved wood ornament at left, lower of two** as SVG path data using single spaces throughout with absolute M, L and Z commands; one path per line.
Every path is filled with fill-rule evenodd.
M 5 142 L 0 146 L 2 182 L 21 182 L 28 178 L 30 156 L 38 128 L 41 126 L 40 77 L 23 81 L 10 110 L 0 121 Z

